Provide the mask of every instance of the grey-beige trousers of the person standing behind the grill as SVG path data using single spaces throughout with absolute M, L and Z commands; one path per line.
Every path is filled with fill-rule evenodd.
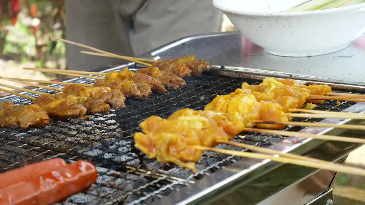
M 212 0 L 66 0 L 66 38 L 135 56 L 189 35 L 219 32 L 222 13 Z M 92 70 L 120 59 L 80 54 L 67 45 L 69 69 Z

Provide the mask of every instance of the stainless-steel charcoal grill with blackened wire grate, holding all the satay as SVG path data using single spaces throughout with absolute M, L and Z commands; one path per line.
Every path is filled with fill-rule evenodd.
M 233 34 L 236 35 L 236 34 Z M 216 35 L 220 36 L 220 35 Z M 199 36 L 213 38 L 214 35 Z M 199 39 L 198 38 L 198 39 Z M 191 38 L 193 42 L 195 38 Z M 180 43 L 179 43 L 180 42 Z M 182 43 L 181 43 L 182 42 Z M 180 40 L 151 51 L 142 57 L 163 57 L 175 46 L 184 47 L 189 40 Z M 193 51 L 191 51 L 193 53 Z M 198 56 L 199 57 L 199 56 Z M 207 59 L 207 58 L 204 58 Z M 207 59 L 210 60 L 210 59 Z M 223 64 L 220 64 L 223 65 Z M 105 67 L 97 71 L 131 70 L 134 63 Z M 197 78 L 187 78 L 187 86 L 167 93 L 153 94 L 146 101 L 127 99 L 126 108 L 112 110 L 107 115 L 92 115 L 89 120 L 54 120 L 43 128 L 0 129 L 0 172 L 29 163 L 54 157 L 69 162 L 87 159 L 98 167 L 99 178 L 88 191 L 69 197 L 62 204 L 324 204 L 333 200 L 331 187 L 337 173 L 283 165 L 269 160 L 240 158 L 205 152 L 197 163 L 199 172 L 174 165 L 162 165 L 134 147 L 133 134 L 141 131 L 138 124 L 151 115 L 168 117 L 177 109 L 202 109 L 217 94 L 228 94 L 242 82 L 258 84 L 267 77 L 290 77 L 304 84 L 333 86 L 336 92 L 362 93 L 364 86 L 328 79 L 315 80 L 311 76 L 280 73 L 277 71 L 245 70 L 239 67 L 215 66 L 209 73 Z M 63 79 L 65 80 L 65 79 Z M 67 82 L 91 83 L 85 78 Z M 52 85 L 62 88 L 60 85 Z M 41 92 L 55 93 L 46 89 Z M 37 97 L 36 94 L 27 94 Z M 29 104 L 31 101 L 17 96 L 5 96 L 0 101 Z M 316 109 L 360 113 L 364 103 L 327 101 Z M 303 119 L 294 119 L 300 121 Z M 318 119 L 305 121 L 319 122 Z M 359 124 L 360 120 L 326 119 L 326 123 Z M 288 127 L 285 130 L 313 134 L 330 134 L 364 137 L 357 131 L 334 128 Z M 343 163 L 346 155 L 359 145 L 324 140 L 284 138 L 277 135 L 249 134 L 236 142 L 260 147 L 270 147 L 282 152 L 292 152 L 319 159 Z M 220 145 L 219 148 L 242 150 Z M 283 201 L 284 200 L 284 201 Z M 323 203 L 322 203 L 323 202 Z

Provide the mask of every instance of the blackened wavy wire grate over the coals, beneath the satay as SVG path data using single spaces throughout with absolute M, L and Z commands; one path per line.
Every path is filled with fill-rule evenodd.
M 181 186 L 192 184 L 240 158 L 207 152 L 197 163 L 199 173 L 192 173 L 146 158 L 134 148 L 133 134 L 141 131 L 138 124 L 151 115 L 168 117 L 177 109 L 203 109 L 217 94 L 228 94 L 239 88 L 243 80 L 200 76 L 186 81 L 187 86 L 182 89 L 154 94 L 146 101 L 128 99 L 125 109 L 111 111 L 108 115 L 92 115 L 89 120 L 55 120 L 46 127 L 30 128 L 27 131 L 0 128 L 0 172 L 53 157 L 61 157 L 69 162 L 87 159 L 95 163 L 99 169 L 97 183 L 92 189 L 70 197 L 63 204 L 149 204 Z M 92 81 L 81 78 L 73 82 Z M 252 80 L 245 82 L 258 83 Z M 45 89 L 38 90 L 47 92 Z M 1 101 L 4 100 L 30 103 L 16 96 Z M 317 109 L 341 111 L 353 104 L 355 102 L 337 105 L 335 101 L 328 101 Z M 287 128 L 292 131 L 300 129 Z M 244 140 L 235 141 L 266 147 L 281 139 L 281 136 L 251 134 Z M 228 145 L 219 147 L 242 150 Z

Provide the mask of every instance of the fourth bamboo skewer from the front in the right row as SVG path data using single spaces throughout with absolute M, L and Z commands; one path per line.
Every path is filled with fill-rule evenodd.
M 278 122 L 278 121 L 264 121 L 264 120 L 255 120 L 253 123 L 263 123 L 263 124 L 283 124 L 283 125 L 291 125 L 291 126 L 306 126 L 306 127 L 334 127 L 341 129 L 357 129 L 357 130 L 365 130 L 364 125 L 347 125 L 347 124 L 327 124 L 327 123 L 306 123 L 306 122 Z

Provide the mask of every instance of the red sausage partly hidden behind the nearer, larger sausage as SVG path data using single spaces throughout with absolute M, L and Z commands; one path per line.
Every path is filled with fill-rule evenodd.
M 7 171 L 0 174 L 0 190 L 20 182 L 29 181 L 39 175 L 46 174 L 59 167 L 66 166 L 65 160 L 61 158 L 50 159 L 45 162 L 38 162 L 19 169 Z

